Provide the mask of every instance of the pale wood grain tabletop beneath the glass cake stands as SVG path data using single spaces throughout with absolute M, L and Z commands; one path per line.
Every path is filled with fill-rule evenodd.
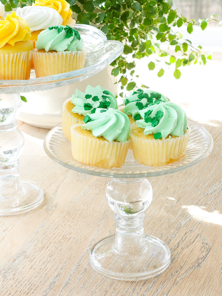
M 149 178 L 154 198 L 145 233 L 168 244 L 171 263 L 162 274 L 134 282 L 109 279 L 89 263 L 91 246 L 115 233 L 104 196 L 109 178 L 54 163 L 43 150 L 47 130 L 19 127 L 25 133 L 21 178 L 40 185 L 45 199 L 33 211 L 0 217 L 1 296 L 222 295 L 221 121 L 204 125 L 214 139 L 207 159 Z

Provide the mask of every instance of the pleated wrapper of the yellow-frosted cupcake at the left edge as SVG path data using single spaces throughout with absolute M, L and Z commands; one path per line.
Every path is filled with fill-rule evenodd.
M 0 79 L 29 79 L 32 50 L 0 54 Z

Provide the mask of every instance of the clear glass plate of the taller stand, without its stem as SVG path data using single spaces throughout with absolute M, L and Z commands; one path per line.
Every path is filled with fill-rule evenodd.
M 107 40 L 106 35 L 93 26 L 75 24 L 73 28 L 80 32 L 87 49 L 83 69 L 39 78 L 32 70 L 27 80 L 0 80 L 0 94 L 41 91 L 82 81 L 103 70 L 123 52 L 121 42 Z

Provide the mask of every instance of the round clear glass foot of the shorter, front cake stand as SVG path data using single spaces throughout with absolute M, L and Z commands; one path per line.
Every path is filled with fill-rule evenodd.
M 115 234 L 97 242 L 90 251 L 91 266 L 112 279 L 135 281 L 148 279 L 163 272 L 170 264 L 170 250 L 160 239 L 145 234 L 141 253 L 120 254 L 115 250 Z

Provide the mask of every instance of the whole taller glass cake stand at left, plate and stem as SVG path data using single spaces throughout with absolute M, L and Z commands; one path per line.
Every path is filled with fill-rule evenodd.
M 0 80 L 0 215 L 15 215 L 36 208 L 44 199 L 41 187 L 20 180 L 18 157 L 24 137 L 17 128 L 21 107 L 20 92 L 53 89 L 84 80 L 103 70 L 123 52 L 123 44 L 108 41 L 105 34 L 90 25 L 75 25 L 87 49 L 83 69 L 28 80 Z

